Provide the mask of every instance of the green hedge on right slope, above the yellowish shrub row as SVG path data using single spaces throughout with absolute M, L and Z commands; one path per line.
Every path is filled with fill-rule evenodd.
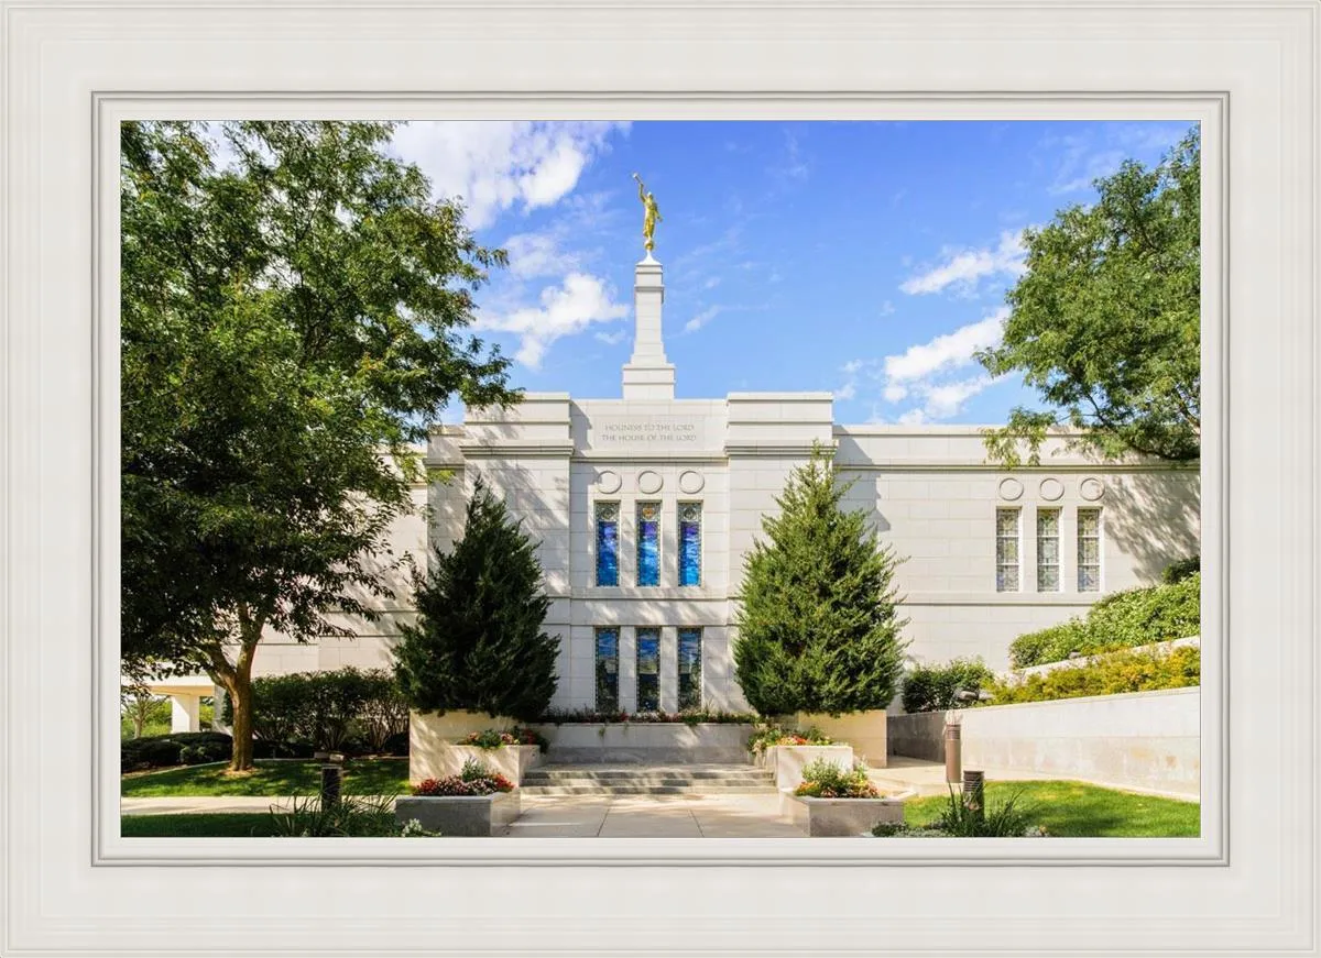
M 1074 652 L 1086 656 L 1194 636 L 1201 631 L 1201 589 L 1202 575 L 1193 571 L 1169 585 L 1107 595 L 1086 619 L 1015 639 L 1009 662 L 1022 669 L 1063 661 Z

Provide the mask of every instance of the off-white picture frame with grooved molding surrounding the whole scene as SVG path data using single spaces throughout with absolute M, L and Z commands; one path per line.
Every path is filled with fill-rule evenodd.
M 1316 954 L 1314 0 L 0 12 L 3 954 Z M 1202 123 L 1202 838 L 120 839 L 115 124 L 300 115 Z

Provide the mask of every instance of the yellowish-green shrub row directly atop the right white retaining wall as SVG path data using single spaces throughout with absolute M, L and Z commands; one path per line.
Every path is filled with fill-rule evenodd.
M 1181 645 L 1166 651 L 1120 651 L 1085 665 L 1054 669 L 1042 676 L 996 681 L 988 686 L 995 705 L 1048 702 L 1083 695 L 1182 689 L 1201 682 L 1201 649 Z

